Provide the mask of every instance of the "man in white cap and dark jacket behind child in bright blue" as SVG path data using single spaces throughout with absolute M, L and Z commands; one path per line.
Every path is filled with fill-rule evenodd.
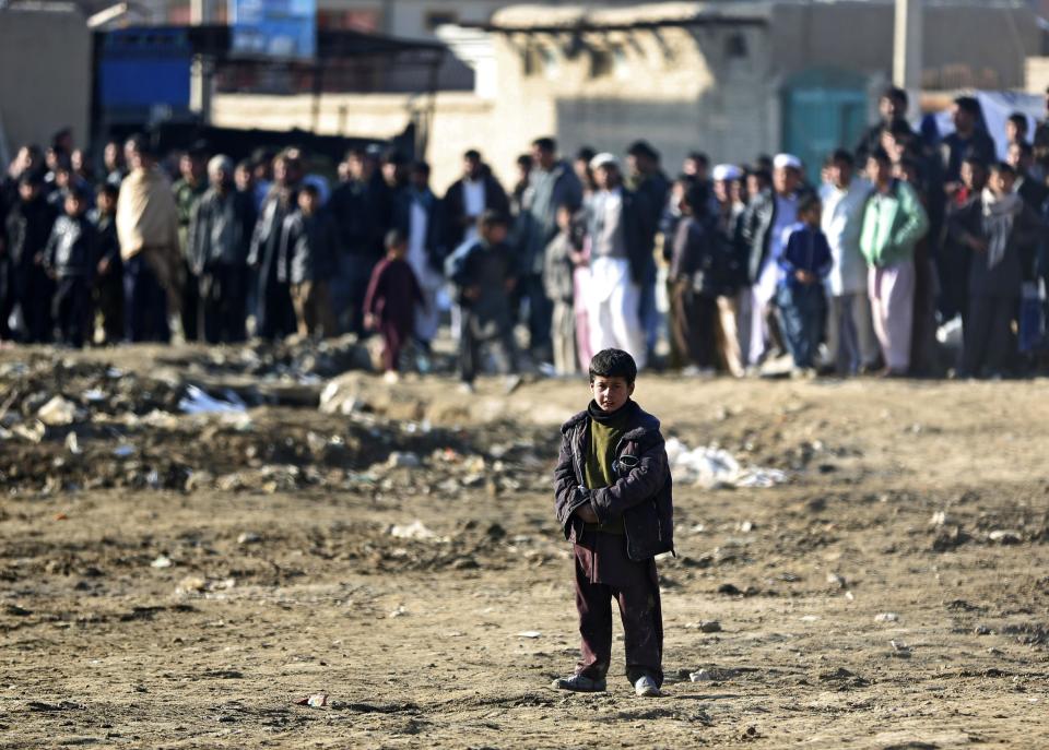
M 768 349 L 768 319 L 779 286 L 781 271 L 777 260 L 782 253 L 786 233 L 798 221 L 801 198 L 802 164 L 793 154 L 777 154 L 773 159 L 773 188 L 755 197 L 743 218 L 743 240 L 749 246 L 747 278 L 751 283 L 750 331 L 743 356 L 756 366 Z

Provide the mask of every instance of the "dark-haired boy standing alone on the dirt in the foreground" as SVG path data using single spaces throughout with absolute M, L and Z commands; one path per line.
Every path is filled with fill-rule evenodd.
M 626 676 L 660 695 L 663 620 L 656 556 L 671 552 L 673 500 L 659 419 L 630 400 L 637 365 L 621 349 L 590 360 L 587 410 L 562 428 L 554 509 L 575 550 L 582 657 L 558 690 L 602 692 L 612 657 L 612 599 L 620 605 Z

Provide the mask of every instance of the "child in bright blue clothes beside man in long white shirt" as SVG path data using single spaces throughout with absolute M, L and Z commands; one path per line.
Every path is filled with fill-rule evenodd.
M 816 347 L 826 299 L 823 279 L 830 273 L 834 258 L 827 237 L 820 230 L 822 206 L 814 195 L 798 204 L 798 223 L 787 229 L 782 271 L 776 291 L 779 325 L 794 360 L 795 374 L 813 372 Z

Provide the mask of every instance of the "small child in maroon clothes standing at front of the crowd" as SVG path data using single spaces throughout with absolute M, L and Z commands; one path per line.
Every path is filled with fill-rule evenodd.
M 382 335 L 382 369 L 387 382 L 396 383 L 404 344 L 415 329 L 415 308 L 423 305 L 423 290 L 408 264 L 408 237 L 400 229 L 386 235 L 386 258 L 372 272 L 364 298 L 364 325 Z

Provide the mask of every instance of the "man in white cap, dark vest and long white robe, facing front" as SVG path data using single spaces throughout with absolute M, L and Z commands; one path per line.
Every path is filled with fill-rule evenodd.
M 643 199 L 623 187 L 620 163 L 609 153 L 590 162 L 597 190 L 586 204 L 590 240 L 590 284 L 586 300 L 593 352 L 624 349 L 645 367 L 640 283 L 646 253 L 646 210 Z

